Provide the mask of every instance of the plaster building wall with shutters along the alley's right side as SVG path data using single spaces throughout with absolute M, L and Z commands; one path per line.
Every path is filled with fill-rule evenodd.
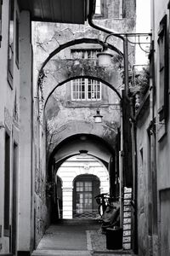
M 160 76 L 159 36 L 160 22 L 167 15 L 167 49 L 169 49 L 169 1 L 151 1 L 151 31 L 154 51 L 151 52 L 153 69 L 150 69 L 149 104 L 143 107 L 143 115 L 137 121 L 138 162 L 138 217 L 139 255 L 161 255 L 170 253 L 169 218 L 169 105 L 167 118 L 160 120 L 159 108 L 161 89 L 164 82 Z M 169 52 L 165 54 L 169 61 Z M 169 88 L 169 66 L 165 81 Z M 152 84 L 156 86 L 156 94 Z M 165 89 L 166 91 L 166 89 Z M 165 94 L 169 102 L 169 96 Z M 154 105 L 152 105 L 154 103 Z M 147 110 L 146 110 L 147 109 Z M 143 161 L 141 155 L 143 154 Z M 141 164 L 141 161 L 143 164 Z

